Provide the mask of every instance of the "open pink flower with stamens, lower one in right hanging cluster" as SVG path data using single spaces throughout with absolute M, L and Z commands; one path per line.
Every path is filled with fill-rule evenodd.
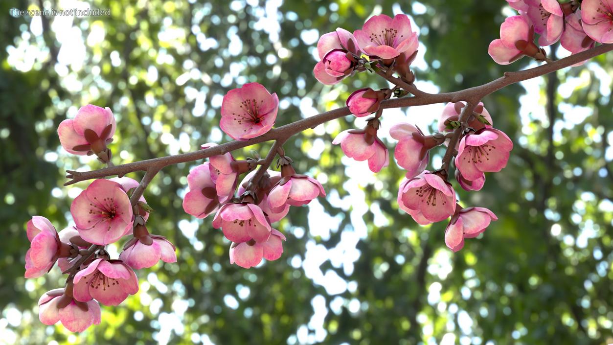
M 440 222 L 455 211 L 455 191 L 451 184 L 427 170 L 400 184 L 398 205 L 422 225 Z

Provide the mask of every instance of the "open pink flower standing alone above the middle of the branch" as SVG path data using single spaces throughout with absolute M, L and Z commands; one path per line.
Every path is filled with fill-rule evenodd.
M 275 124 L 279 98 L 259 83 L 228 91 L 221 103 L 219 126 L 235 140 L 248 140 L 270 131 Z

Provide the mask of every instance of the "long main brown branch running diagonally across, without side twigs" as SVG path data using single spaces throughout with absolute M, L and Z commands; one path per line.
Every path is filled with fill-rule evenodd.
M 474 86 L 473 88 L 463 89 L 461 91 L 455 91 L 452 93 L 424 93 L 414 97 L 403 97 L 384 100 L 383 102 L 381 102 L 381 107 L 400 108 L 443 102 L 458 102 L 460 100 L 479 100 L 482 99 L 484 96 L 487 96 L 488 94 L 494 93 L 495 91 L 504 88 L 505 86 L 517 82 L 522 82 L 531 78 L 540 77 L 541 75 L 545 75 L 554 72 L 555 70 L 572 66 L 576 63 L 593 58 L 594 56 L 601 55 L 611 50 L 613 50 L 613 44 L 603 44 L 598 47 L 582 51 L 581 53 L 560 59 L 558 61 L 554 61 L 553 63 L 543 64 L 538 67 L 534 67 L 527 70 L 520 70 L 518 72 L 507 72 L 504 74 L 503 77 L 500 77 L 484 85 Z M 294 134 L 304 131 L 305 129 L 316 127 L 319 124 L 326 123 L 327 121 L 349 115 L 350 113 L 351 112 L 349 112 L 348 107 L 338 108 L 335 110 L 330 110 L 329 112 L 321 113 L 319 115 L 311 116 L 309 118 L 301 119 L 294 123 L 286 124 L 285 126 L 272 129 L 264 135 L 246 141 L 235 140 L 233 142 L 223 143 L 221 145 L 213 146 L 205 150 L 198 150 L 189 153 L 175 154 L 173 156 L 147 159 L 145 161 L 116 165 L 115 167 L 107 167 L 104 169 L 92 170 L 89 172 L 68 171 L 69 176 L 70 178 L 72 178 L 72 180 L 68 181 L 67 183 L 64 183 L 64 185 L 67 186 L 69 184 L 77 183 L 79 181 L 91 180 L 93 178 L 102 178 L 105 176 L 112 175 L 123 176 L 126 173 L 130 172 L 147 171 L 151 166 L 156 166 L 159 169 L 162 169 L 167 165 L 197 161 L 198 159 L 204 159 L 210 156 L 224 154 L 257 143 L 267 142 L 270 140 L 278 140 L 280 138 L 289 138 Z

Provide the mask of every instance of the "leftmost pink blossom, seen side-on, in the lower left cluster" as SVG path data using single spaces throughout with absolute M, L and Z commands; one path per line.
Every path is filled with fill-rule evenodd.
M 30 249 L 26 252 L 26 278 L 38 278 L 55 264 L 58 257 L 70 255 L 70 245 L 59 240 L 55 227 L 47 218 L 34 216 L 28 222 Z

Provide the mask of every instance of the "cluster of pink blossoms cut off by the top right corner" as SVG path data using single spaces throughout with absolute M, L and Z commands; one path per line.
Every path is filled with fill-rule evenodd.
M 506 18 L 500 39 L 490 44 L 489 54 L 498 64 L 510 64 L 522 56 L 546 61 L 541 47 L 558 41 L 572 54 L 593 48 L 596 42 L 613 43 L 613 0 L 506 1 L 519 15 Z

